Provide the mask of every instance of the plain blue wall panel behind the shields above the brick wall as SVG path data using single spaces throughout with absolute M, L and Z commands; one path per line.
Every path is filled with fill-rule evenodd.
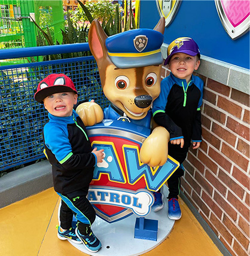
M 160 19 L 156 1 L 141 1 L 140 28 L 154 28 Z M 164 42 L 190 36 L 201 54 L 249 69 L 249 32 L 231 39 L 219 19 L 215 1 L 181 1 L 172 23 L 165 29 Z

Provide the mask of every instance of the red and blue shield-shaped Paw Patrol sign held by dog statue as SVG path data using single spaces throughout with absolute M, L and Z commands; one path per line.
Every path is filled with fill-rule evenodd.
M 94 169 L 88 199 L 96 214 L 112 223 L 136 214 L 145 217 L 154 203 L 153 194 L 163 186 L 179 163 L 169 157 L 152 168 L 139 157 L 150 129 L 118 120 L 103 120 L 87 127 L 92 147 L 103 148 L 105 159 Z

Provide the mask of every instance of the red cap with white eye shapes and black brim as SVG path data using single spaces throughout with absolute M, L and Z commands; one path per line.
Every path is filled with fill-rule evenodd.
M 45 97 L 54 93 L 73 92 L 77 94 L 71 78 L 65 74 L 51 74 L 45 77 L 39 84 L 34 95 L 35 100 L 43 103 Z

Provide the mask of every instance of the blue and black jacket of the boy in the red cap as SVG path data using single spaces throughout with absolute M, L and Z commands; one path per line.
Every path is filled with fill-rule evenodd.
M 70 117 L 48 114 L 44 126 L 45 151 L 52 165 L 54 190 L 67 194 L 88 187 L 93 178 L 96 156 L 86 128 L 73 110 Z

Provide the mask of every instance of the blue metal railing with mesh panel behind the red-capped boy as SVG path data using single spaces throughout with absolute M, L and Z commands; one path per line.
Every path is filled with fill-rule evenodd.
M 89 51 L 89 44 L 0 50 L 0 60 L 79 51 Z M 93 56 L 0 66 L 0 171 L 44 157 L 42 127 L 47 112 L 33 95 L 39 81 L 51 73 L 63 73 L 72 79 L 78 102 L 94 99 L 102 108 L 108 105 Z

